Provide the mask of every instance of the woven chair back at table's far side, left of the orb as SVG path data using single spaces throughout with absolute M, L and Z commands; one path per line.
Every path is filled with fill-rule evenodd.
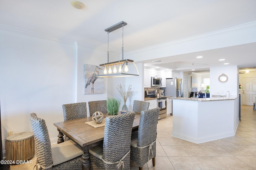
M 87 117 L 86 102 L 62 105 L 64 121 Z

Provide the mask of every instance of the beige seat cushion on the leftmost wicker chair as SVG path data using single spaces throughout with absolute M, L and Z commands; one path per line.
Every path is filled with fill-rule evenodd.
M 52 163 L 55 166 L 76 158 L 83 153 L 84 152 L 80 149 L 80 146 L 72 140 L 62 142 L 60 144 L 54 144 L 52 145 Z

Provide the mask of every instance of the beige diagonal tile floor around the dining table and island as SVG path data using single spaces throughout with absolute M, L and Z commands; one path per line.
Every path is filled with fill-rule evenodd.
M 158 122 L 156 166 L 143 170 L 256 170 L 256 111 L 243 105 L 236 135 L 194 144 L 172 137 L 172 116 Z M 32 158 L 35 163 L 35 156 Z M 34 164 L 12 165 L 11 170 L 33 169 Z M 138 170 L 131 162 L 131 170 Z

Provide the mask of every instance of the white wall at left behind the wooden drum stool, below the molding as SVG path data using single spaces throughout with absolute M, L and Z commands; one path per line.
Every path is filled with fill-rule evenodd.
M 29 114 L 46 120 L 50 138 L 63 121 L 62 104 L 75 101 L 75 45 L 0 30 L 2 143 L 8 131 L 32 131 Z

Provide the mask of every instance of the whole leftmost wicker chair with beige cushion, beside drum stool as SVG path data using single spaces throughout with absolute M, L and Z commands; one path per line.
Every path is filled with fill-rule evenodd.
M 51 145 L 44 119 L 29 115 L 36 147 L 36 170 L 82 170 L 83 151 L 73 141 Z

